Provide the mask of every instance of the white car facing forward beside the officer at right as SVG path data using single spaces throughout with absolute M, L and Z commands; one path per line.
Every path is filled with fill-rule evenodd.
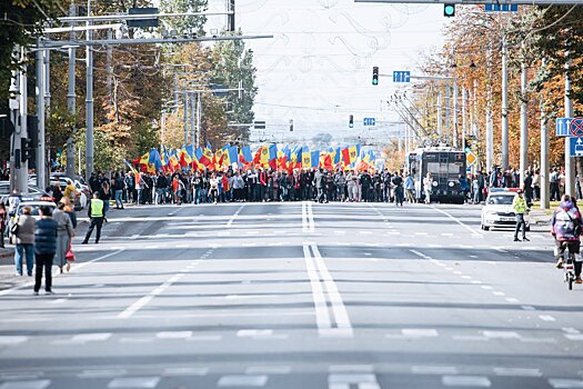
M 485 231 L 491 228 L 516 226 L 516 212 L 512 208 L 516 191 L 493 190 L 487 194 L 485 206 L 482 208 L 481 228 Z M 524 213 L 526 231 L 531 229 L 529 212 Z

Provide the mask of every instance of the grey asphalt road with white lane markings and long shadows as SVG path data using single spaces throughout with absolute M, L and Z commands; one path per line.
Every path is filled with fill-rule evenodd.
M 0 291 L 0 389 L 583 388 L 583 287 L 479 208 L 114 211 L 54 296 Z

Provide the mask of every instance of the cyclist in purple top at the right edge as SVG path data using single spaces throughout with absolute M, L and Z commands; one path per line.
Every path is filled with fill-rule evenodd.
M 565 249 L 569 249 L 569 258 L 574 259 L 574 256 L 579 253 L 581 241 L 580 233 L 583 226 L 583 219 L 581 213 L 575 208 L 571 197 L 564 194 L 561 201 L 561 205 L 553 213 L 552 219 L 552 230 L 556 243 L 556 257 L 559 258 L 556 262 L 556 268 L 561 269 L 563 267 L 563 257 Z M 581 268 L 582 262 L 575 261 L 575 282 L 583 283 L 581 280 Z

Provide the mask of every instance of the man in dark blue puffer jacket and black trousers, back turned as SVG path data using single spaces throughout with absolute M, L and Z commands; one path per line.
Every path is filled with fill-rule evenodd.
M 57 252 L 57 228 L 59 225 L 52 220 L 50 207 L 40 207 L 41 219 L 34 228 L 34 257 L 37 259 L 37 275 L 34 280 L 34 296 L 39 295 L 42 283 L 42 268 L 44 268 L 44 290 L 52 295 L 52 258 Z

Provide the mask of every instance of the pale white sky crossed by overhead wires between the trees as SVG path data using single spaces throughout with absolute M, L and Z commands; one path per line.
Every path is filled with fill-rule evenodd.
M 225 9 L 210 0 L 211 11 Z M 353 0 L 235 0 L 235 24 L 244 34 L 273 34 L 249 40 L 258 69 L 255 119 L 277 132 L 278 141 L 310 139 L 329 132 L 334 140 L 350 134 L 384 136 L 403 124 L 386 109 L 395 89 L 392 77 L 372 86 L 372 67 L 381 74 L 393 70 L 415 73 L 418 54 L 441 48 L 448 21 L 443 4 L 373 4 Z M 223 29 L 224 17 L 209 19 L 207 31 Z M 354 114 L 353 130 L 349 114 Z M 363 118 L 385 124 L 365 129 Z M 288 122 L 294 120 L 294 132 Z M 383 130 L 384 128 L 384 130 Z

